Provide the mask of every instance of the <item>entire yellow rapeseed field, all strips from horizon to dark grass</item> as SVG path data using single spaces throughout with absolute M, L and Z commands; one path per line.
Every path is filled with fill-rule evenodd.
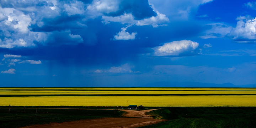
M 31 96 L 31 95 L 67 96 Z M 197 94 L 198 96 L 68 96 L 74 94 Z M 210 94 L 201 96 L 201 94 Z M 212 95 L 218 94 L 218 95 Z M 240 94 L 240 95 L 222 95 Z M 246 95 L 244 95 L 246 94 Z M 256 106 L 256 89 L 241 88 L 0 88 L 0 106 L 127 106 L 211 107 Z M 26 96 L 30 95 L 30 96 Z

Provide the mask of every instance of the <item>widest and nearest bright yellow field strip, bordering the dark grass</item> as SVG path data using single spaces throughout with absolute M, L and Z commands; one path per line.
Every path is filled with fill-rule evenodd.
M 1 106 L 256 107 L 256 96 L 65 96 L 0 97 Z M 128 101 L 128 103 L 127 103 Z

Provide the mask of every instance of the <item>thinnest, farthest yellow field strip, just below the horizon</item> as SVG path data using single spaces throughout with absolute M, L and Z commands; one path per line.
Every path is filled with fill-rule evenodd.
M 256 90 L 256 88 L 0 88 L 0 90 Z

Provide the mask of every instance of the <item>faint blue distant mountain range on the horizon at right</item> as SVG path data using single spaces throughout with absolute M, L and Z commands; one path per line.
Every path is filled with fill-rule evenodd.
M 201 83 L 201 82 L 154 82 L 151 84 L 143 85 L 142 87 L 256 87 L 256 84 L 251 85 L 234 85 L 232 83 L 224 84 L 211 84 L 211 83 Z

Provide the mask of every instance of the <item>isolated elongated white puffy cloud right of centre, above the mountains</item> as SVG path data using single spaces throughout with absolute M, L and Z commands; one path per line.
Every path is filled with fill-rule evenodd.
M 197 42 L 190 40 L 173 41 L 165 43 L 163 46 L 154 47 L 156 56 L 169 56 L 169 55 L 180 55 L 181 53 L 194 53 L 194 50 L 198 47 Z

